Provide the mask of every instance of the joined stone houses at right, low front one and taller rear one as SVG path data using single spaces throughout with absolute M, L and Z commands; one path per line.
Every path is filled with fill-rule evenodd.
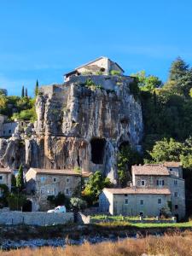
M 113 215 L 160 216 L 170 208 L 177 219 L 185 216 L 185 185 L 180 163 L 132 166 L 131 187 L 103 189 L 100 209 Z

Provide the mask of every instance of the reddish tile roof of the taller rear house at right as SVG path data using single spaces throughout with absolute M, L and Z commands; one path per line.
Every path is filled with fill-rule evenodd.
M 169 176 L 170 173 L 163 165 L 132 166 L 132 174 L 135 175 L 162 175 Z

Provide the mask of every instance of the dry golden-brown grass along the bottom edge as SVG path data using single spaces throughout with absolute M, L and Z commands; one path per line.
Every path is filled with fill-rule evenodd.
M 9 252 L 2 252 L 2 256 L 140 256 L 165 255 L 165 256 L 189 256 L 192 255 L 192 233 L 176 233 L 173 236 L 166 235 L 160 237 L 147 236 L 141 239 L 125 239 L 117 242 L 102 242 L 90 245 L 86 242 L 82 246 L 61 247 L 41 247 L 38 249 L 18 249 Z

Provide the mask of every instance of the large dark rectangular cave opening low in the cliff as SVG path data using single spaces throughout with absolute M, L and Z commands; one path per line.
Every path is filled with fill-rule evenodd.
M 91 161 L 96 165 L 102 165 L 104 159 L 106 140 L 104 138 L 92 138 L 91 145 Z

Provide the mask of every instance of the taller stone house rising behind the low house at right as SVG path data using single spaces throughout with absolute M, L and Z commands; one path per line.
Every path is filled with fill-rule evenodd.
M 185 183 L 183 180 L 183 169 L 180 163 L 169 163 L 165 165 L 132 166 L 133 186 L 140 188 L 167 188 L 171 191 L 172 214 L 181 219 L 185 217 Z M 172 166 L 173 165 L 173 166 Z M 152 174 L 151 168 L 162 168 L 160 172 Z M 143 170 L 140 170 L 143 168 Z M 166 168 L 166 172 L 164 172 Z M 150 170 L 149 170 L 150 169 Z M 149 171 L 148 171 L 149 170 Z

